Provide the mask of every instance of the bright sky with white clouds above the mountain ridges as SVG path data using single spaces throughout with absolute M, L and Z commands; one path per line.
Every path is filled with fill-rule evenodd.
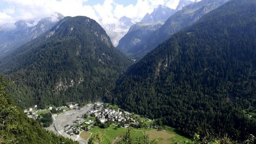
M 194 1 L 194 0 L 191 0 Z M 0 26 L 13 27 L 19 20 L 33 20 L 54 12 L 64 16 L 87 16 L 111 24 L 122 16 L 140 21 L 159 4 L 175 9 L 179 0 L 0 0 Z

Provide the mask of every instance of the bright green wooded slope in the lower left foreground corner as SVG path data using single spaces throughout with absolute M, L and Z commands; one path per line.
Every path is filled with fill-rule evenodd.
M 28 118 L 6 92 L 9 83 L 0 76 L 0 143 L 77 143 L 52 132 Z

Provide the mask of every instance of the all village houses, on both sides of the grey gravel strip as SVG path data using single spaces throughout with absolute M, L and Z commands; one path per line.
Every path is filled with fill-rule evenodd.
M 88 105 L 86 106 L 88 107 Z M 79 110 L 80 107 L 78 107 L 78 104 L 69 104 L 63 107 L 59 108 L 53 108 L 48 107 L 47 109 L 43 110 L 37 110 L 37 105 L 34 105 L 34 108 L 29 108 L 24 110 L 25 114 L 27 114 L 28 117 L 38 119 L 40 116 L 38 115 L 38 111 L 53 111 L 56 109 L 56 111 L 60 112 L 60 114 L 63 114 L 67 109 L 77 109 Z M 55 111 L 55 110 L 54 110 Z M 53 114 L 58 116 L 58 114 Z M 147 119 L 148 122 L 151 120 Z M 145 124 L 145 121 L 139 119 L 139 116 L 135 114 L 132 114 L 130 112 L 121 110 L 119 108 L 109 108 L 107 107 L 106 103 L 95 103 L 94 107 L 89 109 L 86 114 L 82 116 L 77 116 L 76 120 L 72 122 L 72 124 L 66 124 L 64 126 L 64 132 L 70 136 L 72 135 L 78 135 L 83 130 L 88 132 L 90 130 L 90 127 L 98 126 L 100 128 L 107 128 L 111 124 L 118 128 L 127 128 L 127 127 L 133 127 L 133 128 L 151 128 L 151 129 L 159 129 L 160 126 L 153 126 L 152 124 Z

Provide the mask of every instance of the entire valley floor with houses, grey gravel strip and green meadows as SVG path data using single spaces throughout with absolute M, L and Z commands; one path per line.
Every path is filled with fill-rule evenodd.
M 38 109 L 36 106 L 24 110 L 28 117 L 37 118 L 39 123 L 45 127 L 47 125 L 46 114 L 51 114 L 50 118 L 53 121 L 45 129 L 80 143 L 87 143 L 90 136 L 96 133 L 104 134 L 106 141 L 104 143 L 120 139 L 120 136 L 130 127 L 133 129 L 133 134 L 143 136 L 147 133 L 154 139 L 164 137 L 162 141 L 170 141 L 175 133 L 173 128 L 163 126 L 159 120 L 150 120 L 108 103 L 97 102 L 83 106 L 69 103 L 58 108 L 51 105 L 47 109 Z M 178 135 L 178 137 L 185 139 L 183 136 Z

